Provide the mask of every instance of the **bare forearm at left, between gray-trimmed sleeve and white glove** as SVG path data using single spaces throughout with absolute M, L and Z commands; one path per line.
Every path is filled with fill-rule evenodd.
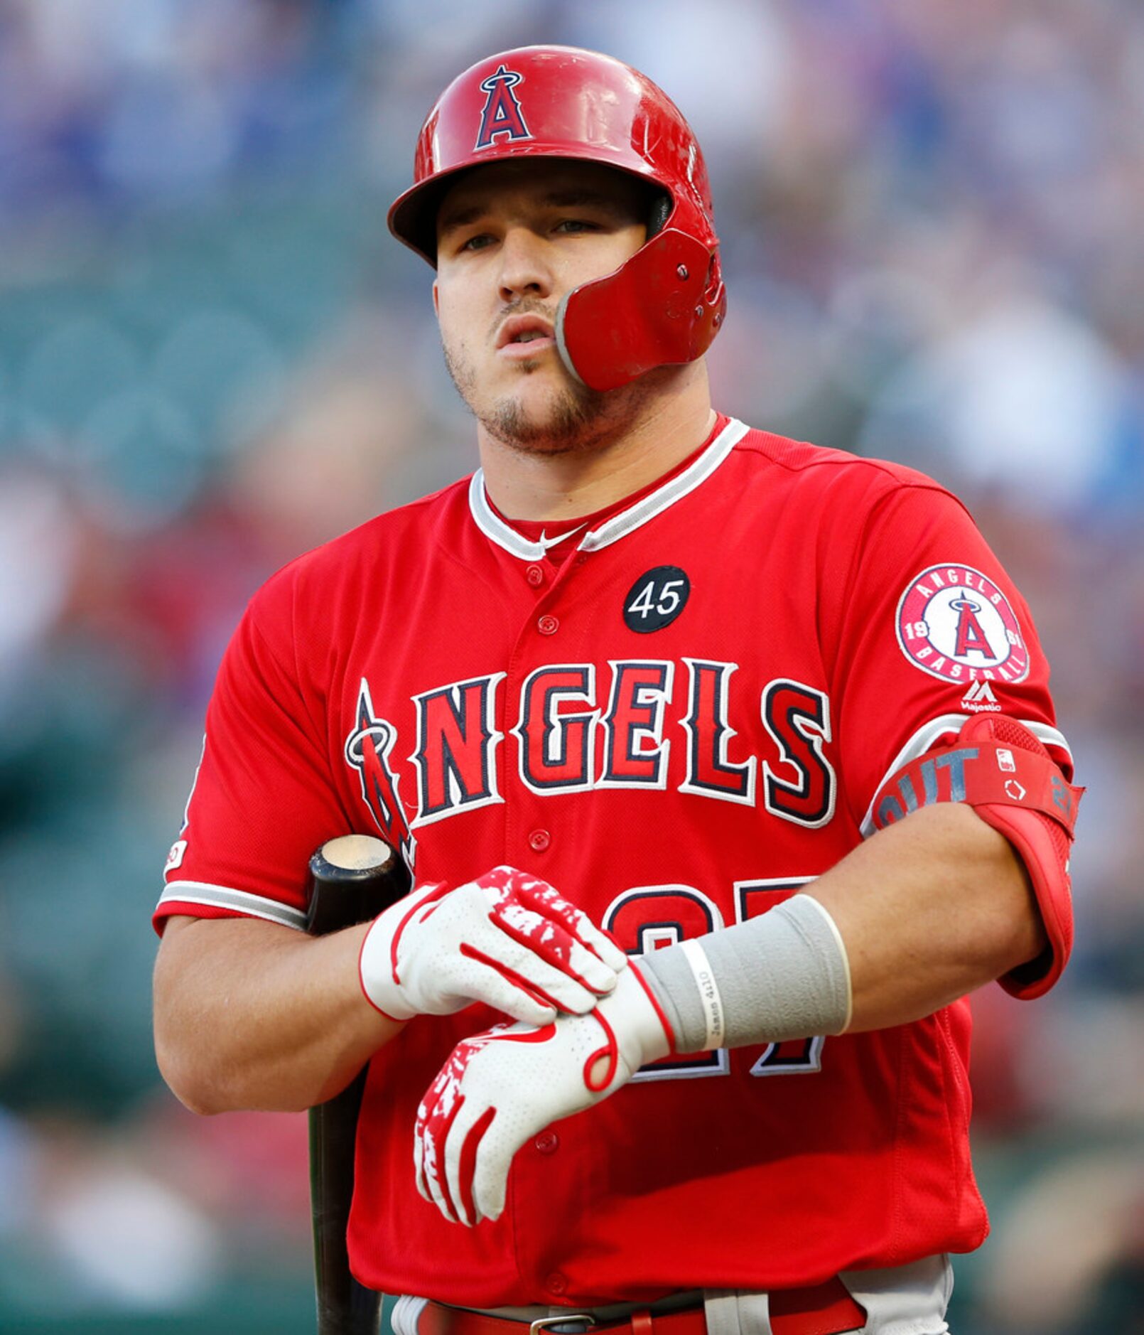
M 400 1028 L 362 995 L 364 933 L 172 918 L 155 967 L 155 1051 L 178 1097 L 202 1113 L 300 1111 L 343 1089 Z

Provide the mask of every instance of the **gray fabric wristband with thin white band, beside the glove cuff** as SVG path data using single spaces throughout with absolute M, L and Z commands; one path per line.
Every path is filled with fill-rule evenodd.
M 826 909 L 796 894 L 770 912 L 641 956 L 677 1052 L 842 1033 L 850 965 Z

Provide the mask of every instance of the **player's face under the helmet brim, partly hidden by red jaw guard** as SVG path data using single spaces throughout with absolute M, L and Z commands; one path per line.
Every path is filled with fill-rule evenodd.
M 530 453 L 590 445 L 642 398 L 598 394 L 561 362 L 565 292 L 603 278 L 646 239 L 646 194 L 595 163 L 493 163 L 466 174 L 438 214 L 434 303 L 450 374 L 495 439 Z M 627 413 L 625 413 L 627 409 Z

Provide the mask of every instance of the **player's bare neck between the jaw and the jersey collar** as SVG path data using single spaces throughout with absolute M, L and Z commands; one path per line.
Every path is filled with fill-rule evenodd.
M 701 392 L 698 392 L 701 391 Z M 567 454 L 523 453 L 479 433 L 485 486 L 510 519 L 559 522 L 633 495 L 686 459 L 716 423 L 706 376 L 649 405 L 605 443 Z

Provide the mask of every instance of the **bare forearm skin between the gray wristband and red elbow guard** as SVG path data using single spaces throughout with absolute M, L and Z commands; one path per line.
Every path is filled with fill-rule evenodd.
M 1020 858 L 962 804 L 924 808 L 878 832 L 808 893 L 846 948 L 850 1032 L 932 1015 L 1045 945 Z

